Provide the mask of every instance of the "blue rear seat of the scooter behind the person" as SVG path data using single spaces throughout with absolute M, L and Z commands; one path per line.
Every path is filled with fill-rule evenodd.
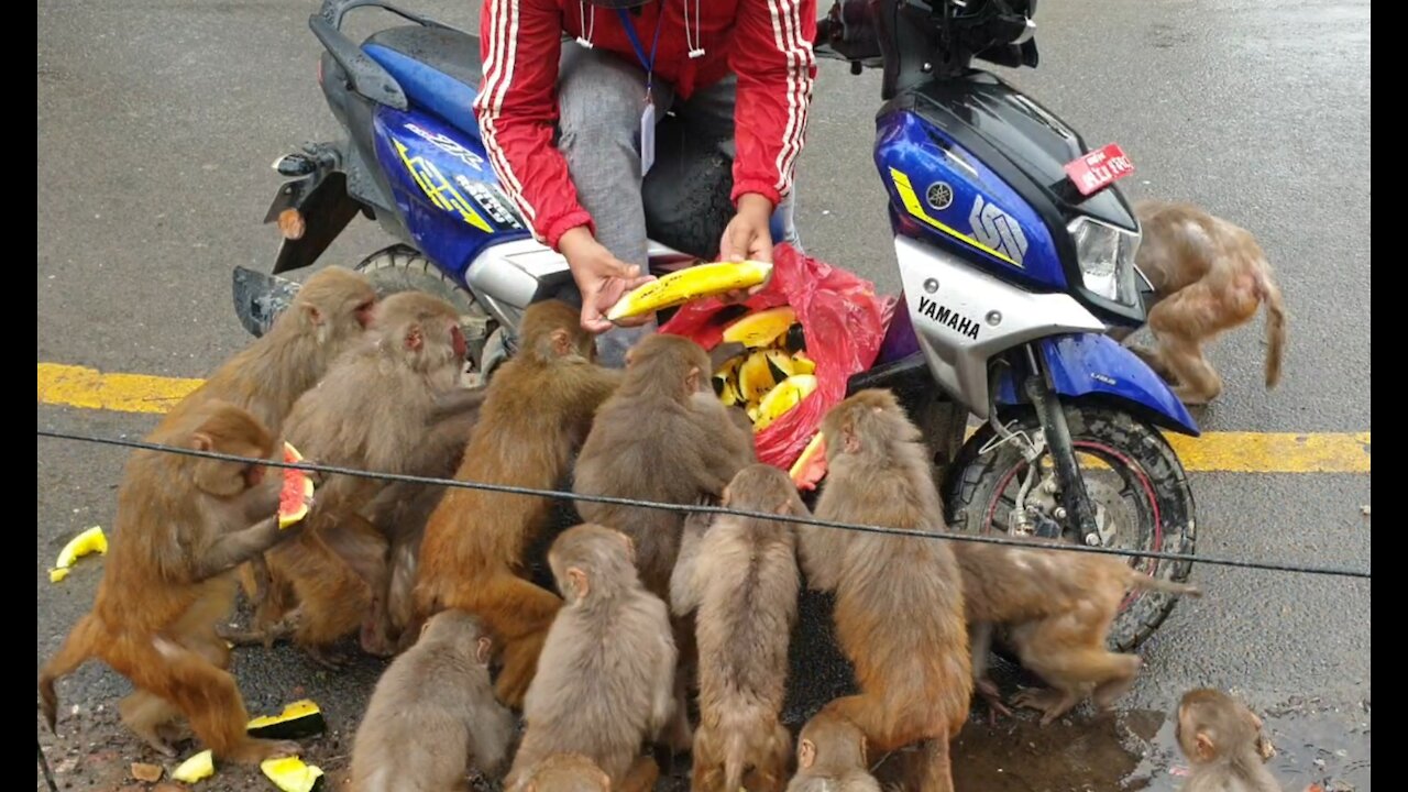
M 473 106 L 483 79 L 483 63 L 477 35 L 403 25 L 372 34 L 362 49 L 401 83 L 413 104 L 479 140 Z

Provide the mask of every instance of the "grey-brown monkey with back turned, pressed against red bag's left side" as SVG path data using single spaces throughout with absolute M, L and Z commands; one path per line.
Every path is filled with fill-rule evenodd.
M 621 388 L 601 404 L 582 445 L 573 493 L 679 505 L 717 499 L 756 457 L 752 431 L 729 416 L 708 385 L 708 354 L 689 338 L 655 334 L 627 349 L 625 359 Z M 641 582 L 667 600 L 684 514 L 587 500 L 576 506 L 582 519 L 631 537 Z M 676 619 L 673 630 L 680 674 L 666 743 L 684 751 L 693 743 L 686 671 L 696 654 L 694 630 L 690 619 Z

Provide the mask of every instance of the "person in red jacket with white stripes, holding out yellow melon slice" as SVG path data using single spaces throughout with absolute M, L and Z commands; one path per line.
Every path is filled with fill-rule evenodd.
M 666 111 L 732 154 L 719 256 L 772 261 L 779 206 L 796 241 L 815 30 L 817 0 L 484 0 L 480 134 L 534 234 L 566 256 L 584 328 L 610 330 L 604 313 L 650 279 L 641 183 Z M 620 365 L 642 331 L 598 337 L 603 361 Z

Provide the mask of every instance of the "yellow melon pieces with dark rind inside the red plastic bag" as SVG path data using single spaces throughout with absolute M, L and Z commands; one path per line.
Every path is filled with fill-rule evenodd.
M 714 393 L 724 404 L 742 404 L 753 431 L 763 431 L 817 389 L 817 364 L 807 357 L 801 324 L 790 306 L 739 318 L 724 330 L 722 342 L 743 351 L 714 372 Z

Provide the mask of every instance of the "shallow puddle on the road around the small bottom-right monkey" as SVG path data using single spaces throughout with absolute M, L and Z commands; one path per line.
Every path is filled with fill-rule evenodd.
M 1177 792 L 1187 762 L 1170 713 L 1088 709 L 1041 727 L 1025 713 L 987 724 L 981 705 L 953 741 L 956 792 Z M 1370 792 L 1367 713 L 1267 713 L 1277 755 L 1269 768 L 1287 792 Z M 888 764 L 888 762 L 883 762 Z M 877 768 L 883 776 L 884 767 Z

